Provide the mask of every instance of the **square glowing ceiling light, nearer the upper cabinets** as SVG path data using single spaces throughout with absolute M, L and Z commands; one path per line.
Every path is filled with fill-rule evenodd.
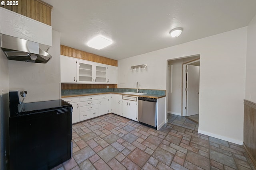
M 112 44 L 112 41 L 110 39 L 107 39 L 106 37 L 103 37 L 102 35 L 94 37 L 87 43 L 89 47 L 98 50 L 103 49 L 104 47 L 107 47 L 110 44 Z

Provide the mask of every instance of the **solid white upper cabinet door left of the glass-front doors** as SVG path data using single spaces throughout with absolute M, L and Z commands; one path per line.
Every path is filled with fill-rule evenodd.
M 60 56 L 60 82 L 76 83 L 76 59 Z

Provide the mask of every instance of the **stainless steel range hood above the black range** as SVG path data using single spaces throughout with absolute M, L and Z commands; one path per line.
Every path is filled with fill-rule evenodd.
M 50 47 L 10 35 L 0 34 L 0 47 L 9 60 L 47 63 L 52 58 L 47 53 Z M 47 50 L 44 51 L 41 47 Z

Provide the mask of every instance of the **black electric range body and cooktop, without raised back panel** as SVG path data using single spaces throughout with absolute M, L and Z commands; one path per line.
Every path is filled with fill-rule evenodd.
M 72 155 L 72 105 L 64 100 L 10 105 L 10 170 L 48 170 Z

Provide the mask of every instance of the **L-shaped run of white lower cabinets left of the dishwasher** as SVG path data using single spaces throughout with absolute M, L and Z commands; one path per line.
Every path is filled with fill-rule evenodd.
M 102 94 L 62 99 L 73 106 L 72 123 L 107 113 L 138 121 L 138 97 L 135 96 Z

